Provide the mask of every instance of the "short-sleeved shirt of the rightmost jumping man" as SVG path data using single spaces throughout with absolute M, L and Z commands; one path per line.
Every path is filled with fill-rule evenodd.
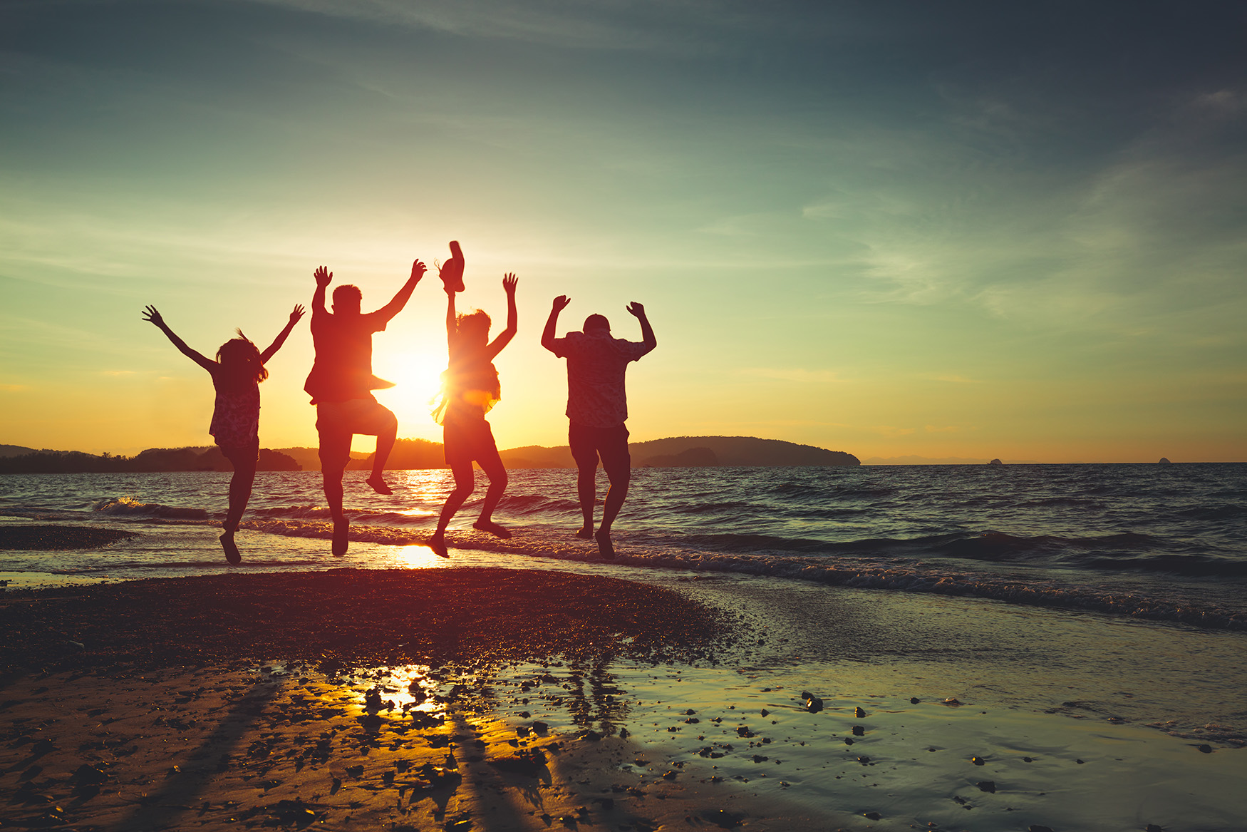
M 567 359 L 569 419 L 589 428 L 614 428 L 627 420 L 624 373 L 628 362 L 648 352 L 645 344 L 595 329 L 555 338 L 552 352 Z

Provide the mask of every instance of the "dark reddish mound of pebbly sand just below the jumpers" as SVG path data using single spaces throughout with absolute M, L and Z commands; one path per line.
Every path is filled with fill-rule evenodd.
M 330 569 L 10 591 L 0 670 L 239 659 L 443 665 L 703 655 L 726 616 L 657 586 L 551 570 Z

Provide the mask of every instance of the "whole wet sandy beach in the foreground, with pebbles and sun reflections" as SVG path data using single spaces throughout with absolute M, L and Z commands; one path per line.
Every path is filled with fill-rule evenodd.
M 579 569 L 10 591 L 4 828 L 1211 831 L 1247 815 L 1233 741 L 1148 722 L 1178 680 L 1151 701 L 1121 671 L 1008 644 L 1036 624 L 1054 652 L 1207 634 Z M 979 655 L 953 624 L 968 612 Z

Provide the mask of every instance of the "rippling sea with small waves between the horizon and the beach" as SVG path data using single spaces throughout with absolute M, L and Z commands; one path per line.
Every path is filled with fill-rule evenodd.
M 352 551 L 328 551 L 315 472 L 256 480 L 238 541 L 249 569 L 436 565 L 423 543 L 449 472 L 389 472 L 393 496 L 347 474 Z M 575 472 L 514 470 L 496 540 L 451 525 L 469 551 L 592 561 Z M 90 524 L 138 533 L 100 549 L 0 551 L 0 573 L 130 579 L 227 569 L 214 538 L 228 474 L 10 474 L 0 523 Z M 600 499 L 605 493 L 600 473 Z M 619 563 L 734 573 L 894 593 L 994 599 L 1247 629 L 1247 464 L 636 469 L 615 526 Z M 21 580 L 17 581 L 21 585 Z

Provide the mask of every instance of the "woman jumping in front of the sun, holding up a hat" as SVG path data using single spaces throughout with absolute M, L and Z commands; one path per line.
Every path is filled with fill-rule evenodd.
M 453 248 L 458 248 L 451 243 Z M 458 254 L 461 258 L 461 254 Z M 466 314 L 455 314 L 455 278 L 443 279 L 446 291 L 446 346 L 450 353 L 450 367 L 443 375 L 441 403 L 433 412 L 433 418 L 443 427 L 443 448 L 446 464 L 455 475 L 455 489 L 446 495 L 438 518 L 438 530 L 429 540 L 429 548 L 443 558 L 446 554 L 446 525 L 455 511 L 464 504 L 476 486 L 476 474 L 471 463 L 476 460 L 489 476 L 489 490 L 480 506 L 480 516 L 473 524 L 474 529 L 489 531 L 499 538 L 510 538 L 511 533 L 494 523 L 494 509 L 503 499 L 506 489 L 506 468 L 498 455 L 494 432 L 490 430 L 485 414 L 501 398 L 498 383 L 498 370 L 494 357 L 515 337 L 515 274 L 503 277 L 503 291 L 506 292 L 506 329 L 503 329 L 493 342 L 489 341 L 489 316 L 480 309 Z M 461 288 L 463 284 L 458 283 Z

